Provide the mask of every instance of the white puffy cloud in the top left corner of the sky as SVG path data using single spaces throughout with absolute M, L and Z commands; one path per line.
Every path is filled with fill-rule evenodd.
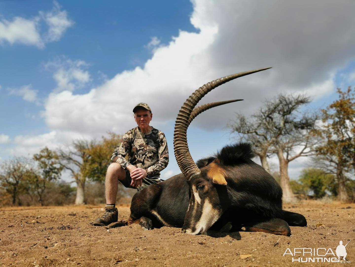
M 57 2 L 53 2 L 53 10 L 39 11 L 38 16 L 32 18 L 14 17 L 12 20 L 0 21 L 0 44 L 5 41 L 14 44 L 35 45 L 44 48 L 46 43 L 58 41 L 66 29 L 73 25 L 66 11 L 61 11 Z M 41 31 L 47 26 L 47 32 Z

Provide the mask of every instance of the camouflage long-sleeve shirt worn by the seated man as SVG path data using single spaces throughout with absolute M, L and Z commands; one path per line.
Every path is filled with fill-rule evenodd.
M 147 178 L 159 177 L 160 171 L 169 163 L 165 135 L 153 127 L 149 133 L 142 133 L 139 127 L 133 128 L 125 133 L 111 160 L 119 163 L 124 169 L 131 164 L 137 165 L 147 171 Z

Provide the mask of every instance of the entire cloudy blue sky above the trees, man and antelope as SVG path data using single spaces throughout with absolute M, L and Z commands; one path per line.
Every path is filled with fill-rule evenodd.
M 197 160 L 233 142 L 226 124 L 278 93 L 325 108 L 355 83 L 353 1 L 0 1 L 0 160 L 134 127 L 147 102 L 169 142 L 163 178 L 177 174 L 173 128 L 184 100 L 231 73 L 188 131 Z M 308 159 L 290 165 L 297 178 Z M 277 160 L 271 159 L 277 168 Z

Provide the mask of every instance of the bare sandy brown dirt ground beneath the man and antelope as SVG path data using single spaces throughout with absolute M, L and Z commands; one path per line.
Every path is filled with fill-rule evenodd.
M 119 220 L 127 219 L 129 207 L 118 209 Z M 329 248 L 335 254 L 339 241 L 345 245 L 350 239 L 346 260 L 351 264 L 346 266 L 354 265 L 355 204 L 307 201 L 284 205 L 284 209 L 303 214 L 308 226 L 291 227 L 290 237 L 247 232 L 191 236 L 180 228 L 95 227 L 91 222 L 101 216 L 103 206 L 1 208 L 0 265 L 338 266 L 344 263 L 292 262 L 290 252 L 326 248 L 327 257 L 334 257 Z M 283 256 L 287 248 L 290 251 Z M 294 258 L 311 256 L 305 255 L 301 252 Z

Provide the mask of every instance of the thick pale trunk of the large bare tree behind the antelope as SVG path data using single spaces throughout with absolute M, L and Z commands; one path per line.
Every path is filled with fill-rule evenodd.
M 294 202 L 295 195 L 292 192 L 290 178 L 288 176 L 288 161 L 285 159 L 283 150 L 278 149 L 277 157 L 280 164 L 280 186 L 282 188 L 283 202 Z

